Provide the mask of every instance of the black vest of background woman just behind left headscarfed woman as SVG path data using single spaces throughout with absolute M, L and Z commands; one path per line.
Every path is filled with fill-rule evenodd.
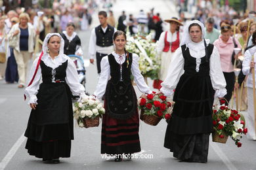
M 77 35 L 75 35 L 74 39 L 72 41 L 69 41 L 64 35 L 64 33 L 60 33 L 61 37 L 64 39 L 64 54 L 70 55 L 75 54 L 76 46 L 81 46 L 81 41 Z

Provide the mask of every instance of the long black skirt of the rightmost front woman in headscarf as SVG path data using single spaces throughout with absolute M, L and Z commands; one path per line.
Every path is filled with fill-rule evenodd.
M 173 97 L 176 103 L 164 143 L 175 158 L 207 162 L 209 134 L 213 130 L 213 96 L 209 75 L 181 76 Z

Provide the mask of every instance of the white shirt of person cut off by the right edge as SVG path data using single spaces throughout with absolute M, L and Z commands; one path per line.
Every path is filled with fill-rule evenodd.
M 248 75 L 246 84 L 247 84 L 247 87 L 249 88 L 253 88 L 253 75 L 252 73 L 250 73 L 250 63 L 251 63 L 252 55 L 254 55 L 254 62 L 256 62 L 256 46 L 249 48 L 248 50 L 245 51 L 245 54 L 244 54 L 242 71 L 244 75 Z M 254 69 L 256 73 L 256 67 L 254 67 Z M 256 78 L 255 78 L 255 82 L 256 82 Z

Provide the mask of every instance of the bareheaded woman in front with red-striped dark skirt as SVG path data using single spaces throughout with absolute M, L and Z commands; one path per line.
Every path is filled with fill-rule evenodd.
M 113 41 L 116 50 L 102 58 L 102 71 L 93 95 L 98 99 L 105 95 L 101 154 L 116 154 L 115 161 L 121 161 L 123 154 L 131 158 L 131 154 L 140 152 L 139 114 L 131 74 L 140 92 L 152 91 L 140 74 L 139 56 L 125 51 L 125 33 L 116 31 Z

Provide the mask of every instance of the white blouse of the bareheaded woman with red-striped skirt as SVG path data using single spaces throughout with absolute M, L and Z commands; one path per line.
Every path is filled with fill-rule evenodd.
M 119 57 L 116 52 L 112 52 L 113 56 L 115 57 L 117 63 L 122 64 L 125 61 L 125 54 Z M 101 99 L 106 91 L 106 86 L 108 84 L 108 80 L 110 79 L 110 63 L 108 63 L 108 56 L 104 56 L 100 63 L 101 73 L 100 78 L 98 80 L 98 84 L 96 86 L 96 91 L 93 95 L 96 98 Z M 120 68 L 121 69 L 121 68 Z M 134 76 L 134 80 L 139 88 L 140 92 L 142 93 L 152 93 L 146 82 L 144 81 L 144 77 L 140 73 L 139 69 L 139 56 L 133 53 L 133 62 L 131 64 L 131 73 Z

